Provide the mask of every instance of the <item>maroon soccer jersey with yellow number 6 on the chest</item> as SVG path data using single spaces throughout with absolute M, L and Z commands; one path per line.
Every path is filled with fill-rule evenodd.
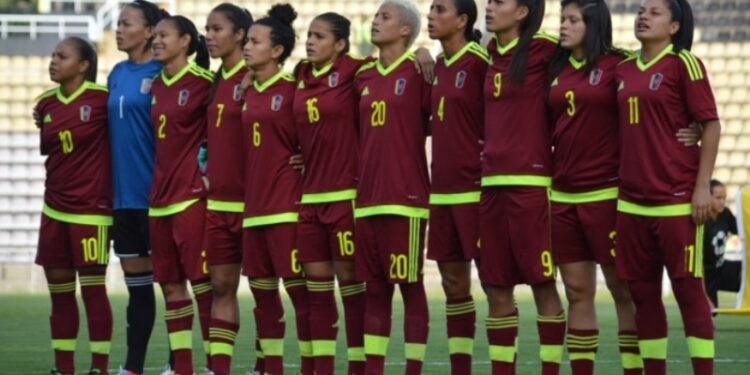
M 294 78 L 281 71 L 247 90 L 242 111 L 245 227 L 297 220 L 302 177 L 289 165 L 299 153 L 294 90 Z

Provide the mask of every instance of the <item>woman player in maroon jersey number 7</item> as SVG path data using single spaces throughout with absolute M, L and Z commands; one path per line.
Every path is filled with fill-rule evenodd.
M 246 10 L 224 3 L 216 6 L 206 21 L 206 44 L 211 57 L 221 59 L 214 75 L 207 108 L 210 189 L 204 235 L 214 300 L 209 335 L 211 370 L 230 372 L 234 340 L 239 330 L 237 287 L 242 264 L 242 89 L 247 73 L 242 47 L 253 18 Z M 236 165 L 237 168 L 228 168 Z

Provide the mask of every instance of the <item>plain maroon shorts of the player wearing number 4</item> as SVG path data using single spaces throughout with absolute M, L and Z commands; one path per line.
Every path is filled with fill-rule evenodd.
M 470 261 L 479 257 L 479 204 L 433 205 L 427 231 L 427 259 Z

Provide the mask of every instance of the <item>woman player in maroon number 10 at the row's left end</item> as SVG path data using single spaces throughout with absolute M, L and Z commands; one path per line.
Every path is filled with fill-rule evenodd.
M 107 374 L 112 309 L 104 278 L 109 262 L 112 180 L 107 139 L 107 89 L 95 84 L 96 52 L 64 39 L 52 53 L 50 79 L 60 86 L 38 98 L 41 153 L 47 156 L 36 264 L 44 267 L 52 313 L 51 374 L 75 372 L 78 335 L 76 275 L 86 307 L 91 371 Z

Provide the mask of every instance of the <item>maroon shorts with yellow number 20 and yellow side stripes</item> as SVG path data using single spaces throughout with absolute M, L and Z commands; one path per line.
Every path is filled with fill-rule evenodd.
M 425 219 L 396 215 L 358 218 L 357 279 L 394 284 L 422 280 L 426 224 Z

